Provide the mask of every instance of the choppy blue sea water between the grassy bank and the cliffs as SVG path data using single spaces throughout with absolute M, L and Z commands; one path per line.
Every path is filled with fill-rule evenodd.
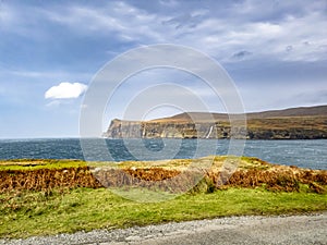
M 0 159 L 192 159 L 227 155 L 230 147 L 228 139 L 0 139 Z M 246 140 L 243 155 L 272 163 L 327 170 L 327 139 Z

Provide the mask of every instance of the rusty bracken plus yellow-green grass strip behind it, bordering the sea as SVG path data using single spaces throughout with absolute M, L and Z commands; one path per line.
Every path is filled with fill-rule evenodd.
M 299 192 L 308 185 L 327 192 L 327 171 L 270 164 L 257 158 L 208 156 L 161 161 L 88 162 L 78 160 L 0 161 L 0 194 L 76 187 L 146 187 L 168 194 L 185 193 L 204 179 L 195 192 L 225 187 L 265 187 Z

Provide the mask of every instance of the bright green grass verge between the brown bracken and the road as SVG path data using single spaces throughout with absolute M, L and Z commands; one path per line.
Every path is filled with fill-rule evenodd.
M 141 193 L 140 195 L 144 195 Z M 264 188 L 228 188 L 211 194 L 185 194 L 142 204 L 106 188 L 15 192 L 0 195 L 0 237 L 27 237 L 64 232 L 146 225 L 241 215 L 302 213 L 327 210 L 327 195 L 274 193 Z

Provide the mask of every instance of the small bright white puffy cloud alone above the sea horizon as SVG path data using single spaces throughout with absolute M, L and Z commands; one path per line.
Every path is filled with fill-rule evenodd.
M 81 83 L 61 83 L 58 86 L 50 87 L 46 94 L 46 99 L 75 99 L 78 98 L 87 86 Z

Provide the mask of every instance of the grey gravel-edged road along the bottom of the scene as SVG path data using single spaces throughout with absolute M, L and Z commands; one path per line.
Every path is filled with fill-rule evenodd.
M 166 223 L 124 230 L 96 230 L 0 240 L 0 245 L 51 244 L 327 244 L 327 212 L 305 216 L 229 217 L 214 220 Z

